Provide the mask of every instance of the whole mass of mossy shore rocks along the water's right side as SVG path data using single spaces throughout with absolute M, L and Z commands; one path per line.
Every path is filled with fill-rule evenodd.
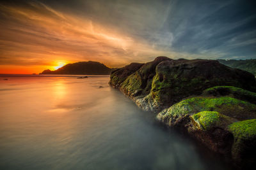
M 157 57 L 112 71 L 109 85 L 237 167 L 255 166 L 256 80 L 216 60 Z

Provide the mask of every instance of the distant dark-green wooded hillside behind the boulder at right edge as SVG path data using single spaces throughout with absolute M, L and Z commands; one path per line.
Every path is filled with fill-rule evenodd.
M 243 69 L 256 76 L 256 59 L 250 60 L 218 60 L 221 64 L 237 69 Z

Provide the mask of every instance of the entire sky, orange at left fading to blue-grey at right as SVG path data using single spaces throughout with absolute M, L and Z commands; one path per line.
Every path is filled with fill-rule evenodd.
M 256 59 L 251 0 L 31 0 L 0 3 L 0 73 L 94 60 Z

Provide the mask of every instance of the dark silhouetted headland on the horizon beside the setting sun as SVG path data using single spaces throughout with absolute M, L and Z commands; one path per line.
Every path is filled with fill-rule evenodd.
M 55 71 L 46 69 L 40 74 L 93 74 L 93 75 L 108 75 L 113 69 L 105 66 L 100 62 L 76 62 L 67 64 Z

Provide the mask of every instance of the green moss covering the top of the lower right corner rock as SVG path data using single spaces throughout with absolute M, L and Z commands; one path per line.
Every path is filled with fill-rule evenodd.
M 228 126 L 236 139 L 248 139 L 256 137 L 256 119 L 235 122 Z

